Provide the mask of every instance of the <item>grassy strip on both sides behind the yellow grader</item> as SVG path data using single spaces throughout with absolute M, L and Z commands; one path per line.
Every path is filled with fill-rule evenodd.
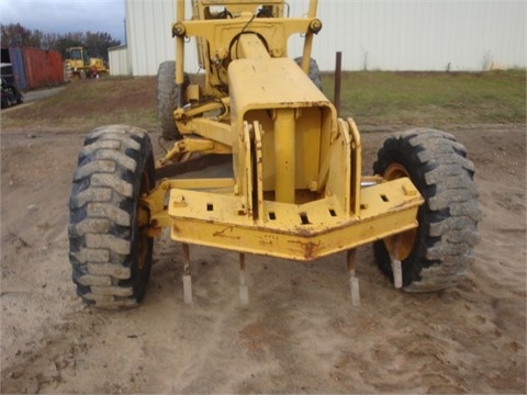
M 323 86 L 333 100 L 332 75 L 323 75 Z M 344 72 L 340 116 L 359 127 L 525 123 L 526 72 Z M 77 81 L 1 116 L 3 129 L 87 133 L 114 123 L 158 128 L 155 77 Z

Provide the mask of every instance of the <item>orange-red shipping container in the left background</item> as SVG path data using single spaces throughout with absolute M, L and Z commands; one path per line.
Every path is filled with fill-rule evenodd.
M 29 90 L 64 82 L 63 57 L 60 53 L 25 47 L 22 54 Z

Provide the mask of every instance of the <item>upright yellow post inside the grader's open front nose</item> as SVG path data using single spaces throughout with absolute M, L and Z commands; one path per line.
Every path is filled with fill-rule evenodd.
M 295 193 L 295 111 L 279 109 L 274 113 L 274 200 L 294 203 Z

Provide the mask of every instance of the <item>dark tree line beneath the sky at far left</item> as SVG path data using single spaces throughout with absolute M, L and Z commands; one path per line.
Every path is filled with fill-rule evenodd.
M 44 33 L 30 30 L 20 23 L 0 24 L 0 41 L 2 48 L 29 46 L 40 49 L 58 50 L 63 58 L 68 58 L 67 49 L 74 46 L 87 48 L 90 57 L 103 58 L 108 61 L 108 48 L 121 45 L 104 32 Z

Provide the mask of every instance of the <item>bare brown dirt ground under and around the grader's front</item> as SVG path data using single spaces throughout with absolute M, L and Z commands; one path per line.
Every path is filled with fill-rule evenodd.
M 360 125 L 359 125 L 360 128 Z M 141 307 L 88 308 L 68 263 L 68 199 L 83 136 L 1 131 L 1 393 L 520 393 L 526 388 L 525 125 L 450 127 L 476 166 L 481 242 L 453 289 L 394 290 L 359 250 L 314 263 L 156 240 Z M 371 168 L 388 128 L 362 135 Z M 153 134 L 153 142 L 157 142 Z

